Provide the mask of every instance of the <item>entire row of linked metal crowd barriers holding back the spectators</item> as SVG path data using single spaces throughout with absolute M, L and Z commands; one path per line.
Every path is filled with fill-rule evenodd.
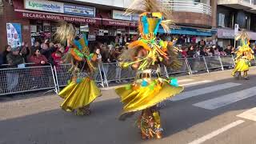
M 182 66 L 178 70 L 160 66 L 161 75 L 169 77 L 172 74 L 195 74 L 199 71 L 234 67 L 233 56 L 213 56 L 199 58 L 179 58 Z M 252 66 L 256 61 L 251 62 Z M 54 90 L 57 94 L 61 87 L 66 86 L 71 78 L 70 64 L 58 66 L 28 66 L 24 68 L 0 69 L 0 95 L 16 94 L 34 90 Z M 132 69 L 121 70 L 116 62 L 98 64 L 94 80 L 98 86 L 109 86 L 110 82 L 126 82 L 135 78 L 136 71 Z

